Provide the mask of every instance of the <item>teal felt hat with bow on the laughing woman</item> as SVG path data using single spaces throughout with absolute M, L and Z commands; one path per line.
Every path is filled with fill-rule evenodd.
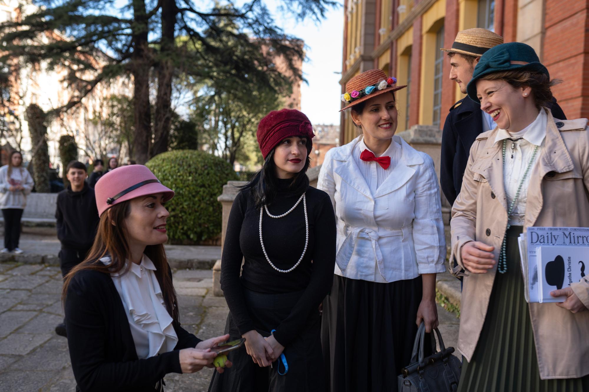
M 481 56 L 472 73 L 472 79 L 466 86 L 468 97 L 475 102 L 481 102 L 477 98 L 477 80 L 493 72 L 510 71 L 511 69 L 540 72 L 550 79 L 548 69 L 542 65 L 534 48 L 521 42 L 508 42 L 494 46 Z

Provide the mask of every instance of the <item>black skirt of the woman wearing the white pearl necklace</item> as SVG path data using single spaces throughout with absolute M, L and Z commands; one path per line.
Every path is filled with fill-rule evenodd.
M 289 316 L 303 292 L 263 294 L 244 288 L 243 294 L 256 330 L 267 337 Z M 304 330 L 284 347 L 289 366 L 286 374 L 278 373 L 280 360 L 272 368 L 255 364 L 243 346 L 227 354 L 233 363 L 231 368 L 223 374 L 214 371 L 209 392 L 325 392 L 319 324 L 317 308 L 307 319 Z M 227 316 L 225 333 L 230 335 L 230 340 L 241 337 L 231 313 Z M 280 371 L 284 371 L 282 364 Z

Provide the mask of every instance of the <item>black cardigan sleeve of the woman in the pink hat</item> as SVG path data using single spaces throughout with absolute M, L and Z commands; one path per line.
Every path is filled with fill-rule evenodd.
M 145 386 L 148 390 L 167 373 L 182 373 L 177 350 L 147 359 L 107 361 L 105 331 L 110 320 L 101 309 L 105 288 L 95 274 L 80 271 L 72 278 L 64 307 L 72 370 L 80 389 L 114 392 Z

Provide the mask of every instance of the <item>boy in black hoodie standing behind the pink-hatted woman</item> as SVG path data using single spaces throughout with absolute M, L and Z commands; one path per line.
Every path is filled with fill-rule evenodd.
M 67 166 L 70 185 L 57 195 L 57 238 L 61 242 L 59 264 L 61 275 L 84 261 L 92 247 L 98 227 L 98 210 L 94 189 L 86 183 L 86 167 L 82 162 L 71 161 Z M 65 324 L 55 327 L 55 333 L 65 336 Z

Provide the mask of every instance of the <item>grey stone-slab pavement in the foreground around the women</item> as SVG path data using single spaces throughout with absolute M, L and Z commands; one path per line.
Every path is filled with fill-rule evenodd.
M 211 293 L 211 270 L 174 270 L 180 321 L 200 338 L 223 334 L 227 305 Z M 75 391 L 67 340 L 54 333 L 63 318 L 58 267 L 0 263 L 0 391 Z M 446 346 L 458 319 L 438 306 Z M 168 374 L 166 392 L 206 391 L 213 370 Z

